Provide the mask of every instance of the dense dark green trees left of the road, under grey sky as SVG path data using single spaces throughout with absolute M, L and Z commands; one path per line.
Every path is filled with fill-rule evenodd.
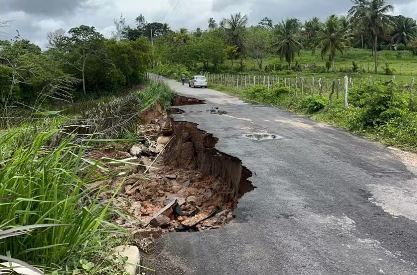
M 99 96 L 143 83 L 150 60 L 145 37 L 105 39 L 95 27 L 49 33 L 46 51 L 17 35 L 0 41 L 0 103 L 4 108 Z

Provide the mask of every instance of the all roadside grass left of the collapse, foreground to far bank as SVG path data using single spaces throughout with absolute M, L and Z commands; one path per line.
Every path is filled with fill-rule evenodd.
M 75 123 L 73 116 L 54 114 L 1 130 L 0 230 L 43 223 L 66 226 L 38 228 L 8 238 L 0 243 L 0 254 L 48 267 L 53 275 L 65 274 L 66 269 L 78 270 L 75 274 L 122 274 L 120 265 L 107 258 L 110 248 L 123 242 L 112 237 L 123 231 L 110 223 L 116 213 L 111 203 L 117 190 L 88 186 L 114 174 L 85 154 L 100 144 L 95 138 L 103 136 L 78 128 L 93 124 L 101 127 L 94 128 L 93 133 L 113 129 L 107 138 L 140 138 L 136 135 L 140 112 L 156 102 L 165 108 L 172 99 L 167 85 L 151 83 L 139 95 L 97 102 L 90 109 L 83 105 L 76 117 L 89 121 L 86 124 Z M 129 124 L 123 124 L 126 114 L 135 118 Z M 102 195 L 107 199 L 103 200 Z

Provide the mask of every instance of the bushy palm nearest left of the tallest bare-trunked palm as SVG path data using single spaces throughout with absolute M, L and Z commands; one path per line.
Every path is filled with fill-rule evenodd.
M 324 29 L 317 35 L 319 42 L 317 47 L 321 48 L 321 56 L 329 54 L 329 61 L 335 71 L 336 52 L 343 54 L 346 49 L 347 40 L 344 38 L 345 32 L 340 19 L 336 15 L 331 15 L 324 23 Z

